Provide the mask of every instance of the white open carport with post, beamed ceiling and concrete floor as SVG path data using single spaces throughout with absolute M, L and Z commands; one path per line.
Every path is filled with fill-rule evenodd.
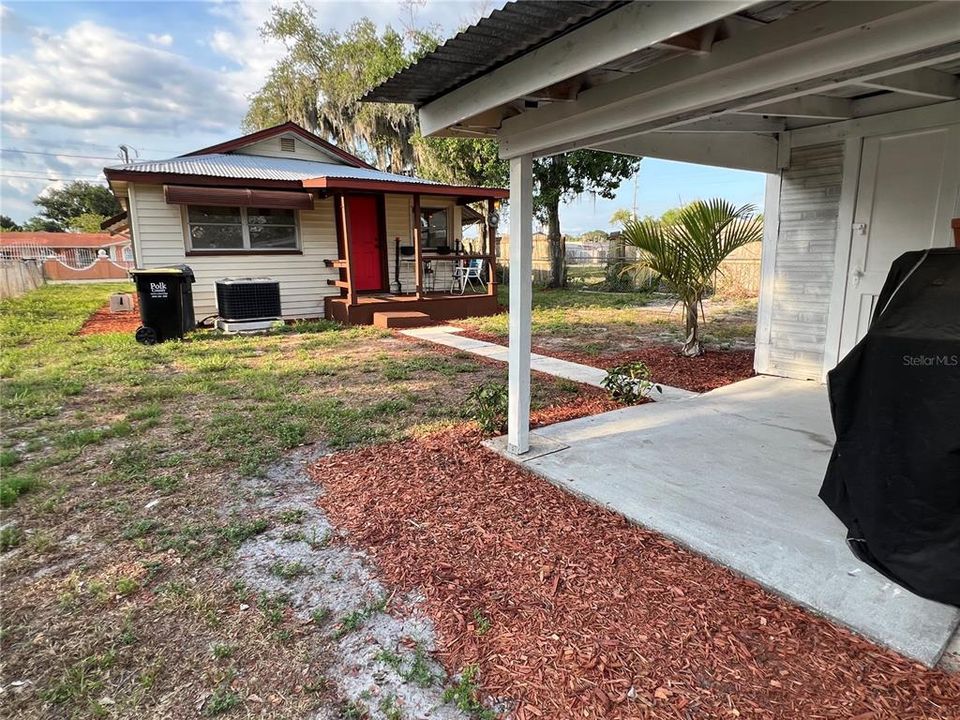
M 955 2 L 521 0 L 371 90 L 414 103 L 424 135 L 496 138 L 510 162 L 494 446 L 936 663 L 957 608 L 859 563 L 817 492 L 835 439 L 826 373 L 866 332 L 891 262 L 955 242 L 958 74 Z M 581 148 L 766 174 L 758 377 L 530 429 L 533 160 Z

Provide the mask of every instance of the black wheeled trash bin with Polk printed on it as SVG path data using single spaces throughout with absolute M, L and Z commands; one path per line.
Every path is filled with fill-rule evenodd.
M 193 270 L 188 265 L 175 265 L 149 270 L 131 270 L 140 301 L 140 322 L 137 342 L 154 345 L 165 340 L 182 338 L 196 327 L 193 315 Z

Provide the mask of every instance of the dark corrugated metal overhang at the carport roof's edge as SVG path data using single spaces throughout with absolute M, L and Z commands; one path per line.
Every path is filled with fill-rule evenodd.
M 424 105 L 627 0 L 517 0 L 370 90 L 365 102 Z

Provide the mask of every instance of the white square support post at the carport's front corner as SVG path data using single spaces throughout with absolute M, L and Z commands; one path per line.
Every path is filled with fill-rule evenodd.
M 510 347 L 507 451 L 530 449 L 533 155 L 510 159 Z

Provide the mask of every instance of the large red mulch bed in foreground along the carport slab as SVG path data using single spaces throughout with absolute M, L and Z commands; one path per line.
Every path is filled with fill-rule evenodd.
M 342 453 L 318 500 L 517 720 L 960 717 L 927 670 L 478 447 Z M 491 625 L 480 633 L 475 612 Z

